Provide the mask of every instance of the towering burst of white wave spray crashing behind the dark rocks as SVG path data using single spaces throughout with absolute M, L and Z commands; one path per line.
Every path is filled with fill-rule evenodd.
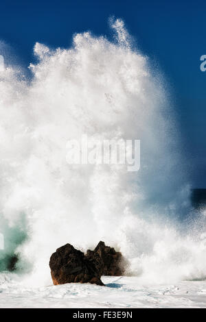
M 128 274 L 164 283 L 206 276 L 206 234 L 190 186 L 167 86 L 124 23 L 113 41 L 76 34 L 69 49 L 36 43 L 33 77 L 0 73 L 0 211 L 5 249 L 23 283 L 51 284 L 49 257 L 71 243 L 120 249 Z M 67 141 L 141 140 L 141 169 L 68 164 Z

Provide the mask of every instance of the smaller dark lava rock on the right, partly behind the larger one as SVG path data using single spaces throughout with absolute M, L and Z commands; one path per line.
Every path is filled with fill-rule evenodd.
M 88 249 L 85 257 L 95 266 L 100 276 L 121 276 L 125 273 L 127 262 L 122 253 L 115 251 L 113 247 L 105 246 L 102 241 L 93 251 Z

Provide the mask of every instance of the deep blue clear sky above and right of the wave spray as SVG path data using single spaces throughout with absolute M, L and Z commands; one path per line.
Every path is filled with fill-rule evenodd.
M 111 36 L 109 16 L 123 18 L 141 51 L 172 88 L 194 187 L 206 188 L 206 3 L 204 1 L 1 1 L 0 40 L 27 66 L 36 41 L 68 47 L 76 32 Z M 1 53 L 0 53 L 1 54 Z

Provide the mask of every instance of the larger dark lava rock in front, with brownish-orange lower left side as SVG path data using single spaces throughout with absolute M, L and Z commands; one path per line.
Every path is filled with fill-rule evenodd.
M 54 285 L 72 282 L 104 285 L 93 262 L 70 244 L 56 249 L 50 258 L 49 267 Z

